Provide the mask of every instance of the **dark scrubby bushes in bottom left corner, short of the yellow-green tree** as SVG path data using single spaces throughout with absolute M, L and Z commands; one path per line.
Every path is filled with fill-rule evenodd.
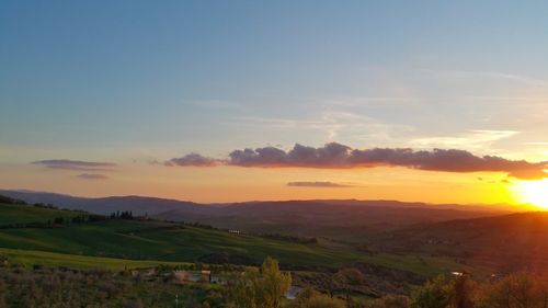
M 199 307 L 216 290 L 203 285 L 181 286 L 160 276 L 111 271 L 0 267 L 0 307 L 102 308 Z

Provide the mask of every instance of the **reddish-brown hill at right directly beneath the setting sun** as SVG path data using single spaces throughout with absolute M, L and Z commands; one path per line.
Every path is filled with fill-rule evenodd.
M 422 224 L 373 240 L 390 253 L 458 258 L 502 272 L 548 269 L 548 212 Z

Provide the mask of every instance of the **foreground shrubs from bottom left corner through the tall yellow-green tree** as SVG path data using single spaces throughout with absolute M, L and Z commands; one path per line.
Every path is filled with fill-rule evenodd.
M 232 274 L 229 283 L 221 286 L 180 284 L 172 271 L 0 266 L 0 308 L 277 308 L 285 303 L 292 284 L 290 275 L 282 273 L 277 261 L 271 258 L 264 260 L 260 270 L 249 267 Z

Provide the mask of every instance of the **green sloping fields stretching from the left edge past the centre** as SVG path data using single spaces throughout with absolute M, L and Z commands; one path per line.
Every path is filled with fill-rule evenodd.
M 35 208 L 0 205 L 19 221 L 36 219 Z M 36 208 L 48 213 L 44 219 L 64 210 Z M 70 212 L 67 212 L 70 214 Z M 2 217 L 5 220 L 5 217 Z M 404 270 L 424 276 L 463 269 L 450 259 L 386 253 L 364 253 L 341 243 L 322 240 L 300 243 L 225 230 L 157 220 L 109 219 L 52 228 L 0 229 L 0 247 L 23 263 L 72 264 L 85 266 L 148 266 L 162 262 L 197 262 L 212 253 L 226 253 L 259 264 L 273 256 L 286 266 L 342 267 L 355 262 Z M 45 252 L 56 253 L 44 256 Z M 5 254 L 7 252 L 4 252 Z M 55 258 L 54 258 L 55 256 Z M 94 262 L 96 258 L 96 262 Z M 49 263 L 48 263 L 49 262 Z M 140 263 L 145 262 L 145 263 Z M 147 263 L 149 262 L 149 263 Z M 111 265 L 109 265 L 111 264 Z M 467 269 L 469 270 L 469 269 Z

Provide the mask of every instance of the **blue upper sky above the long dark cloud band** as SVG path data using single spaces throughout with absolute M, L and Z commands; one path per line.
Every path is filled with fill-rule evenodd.
M 546 1 L 2 1 L 0 163 L 295 142 L 541 160 Z

